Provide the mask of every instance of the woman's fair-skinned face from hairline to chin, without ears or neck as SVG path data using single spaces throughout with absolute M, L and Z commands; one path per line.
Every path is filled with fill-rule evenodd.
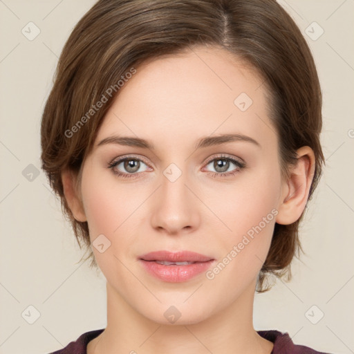
M 84 162 L 84 214 L 109 291 L 155 322 L 197 323 L 252 301 L 270 248 L 283 196 L 277 136 L 263 80 L 233 60 L 199 47 L 136 68 Z M 239 138 L 214 139 L 226 134 Z M 213 261 L 142 261 L 159 250 Z

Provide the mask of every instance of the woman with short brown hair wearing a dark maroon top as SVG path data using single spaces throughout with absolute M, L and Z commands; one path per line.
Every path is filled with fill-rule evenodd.
M 321 107 L 276 1 L 98 1 L 59 59 L 41 159 L 106 277 L 107 326 L 54 353 L 319 353 L 252 311 L 300 249 Z

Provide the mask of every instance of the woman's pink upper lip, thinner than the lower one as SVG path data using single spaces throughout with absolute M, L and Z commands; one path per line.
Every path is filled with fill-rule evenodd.
M 144 261 L 169 261 L 169 262 L 206 262 L 214 260 L 212 257 L 191 251 L 169 252 L 167 250 L 149 252 L 139 257 Z

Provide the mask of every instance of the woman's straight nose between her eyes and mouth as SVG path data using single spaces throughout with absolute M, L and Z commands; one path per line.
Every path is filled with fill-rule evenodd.
M 187 173 L 176 167 L 167 168 L 160 180 L 161 185 L 152 199 L 152 227 L 166 234 L 192 232 L 201 222 L 201 202 L 192 192 L 194 187 Z

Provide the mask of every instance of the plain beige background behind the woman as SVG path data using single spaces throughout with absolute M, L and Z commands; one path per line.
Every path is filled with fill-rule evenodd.
M 327 166 L 301 227 L 307 255 L 293 263 L 293 281 L 255 297 L 254 326 L 287 331 L 318 351 L 354 353 L 354 1 L 279 2 L 315 56 Z M 0 0 L 1 354 L 49 353 L 106 326 L 104 277 L 77 263 L 82 252 L 42 171 L 27 179 L 28 165 L 40 169 L 41 111 L 57 57 L 93 3 Z M 32 41 L 21 32 L 30 21 L 40 30 Z M 306 35 L 306 28 L 313 38 L 320 34 L 313 21 L 324 30 L 317 40 Z M 28 306 L 40 315 L 33 324 L 36 311 Z M 324 317 L 311 323 L 320 311 Z

